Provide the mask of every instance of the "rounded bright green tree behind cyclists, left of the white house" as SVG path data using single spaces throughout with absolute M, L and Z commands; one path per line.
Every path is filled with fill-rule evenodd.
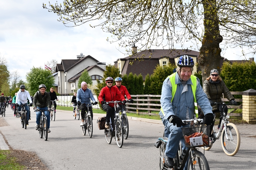
M 26 74 L 26 79 L 28 86 L 26 89 L 28 88 L 28 91 L 32 96 L 34 96 L 34 94 L 38 91 L 40 84 L 44 84 L 47 91 L 50 91 L 50 88 L 53 87 L 55 81 L 49 70 L 42 69 L 41 67 L 35 68 L 34 66 Z

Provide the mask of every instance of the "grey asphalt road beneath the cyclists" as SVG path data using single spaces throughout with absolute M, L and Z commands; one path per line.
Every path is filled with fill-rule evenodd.
M 163 134 L 162 124 L 129 120 L 129 137 L 118 148 L 114 139 L 110 145 L 106 143 L 104 131 L 97 127 L 98 116 L 93 117 L 93 135 L 89 138 L 82 135 L 80 120 L 74 120 L 72 113 L 57 111 L 48 140 L 44 141 L 35 130 L 35 112 L 31 112 L 31 121 L 24 129 L 20 119 L 9 108 L 6 110 L 4 120 L 9 126 L 0 130 L 9 145 L 36 152 L 49 169 L 159 169 L 159 149 L 154 143 Z M 235 156 L 223 152 L 220 139 L 205 151 L 210 169 L 256 169 L 256 138 L 249 137 L 256 135 L 256 125 L 239 125 L 238 129 L 241 146 Z

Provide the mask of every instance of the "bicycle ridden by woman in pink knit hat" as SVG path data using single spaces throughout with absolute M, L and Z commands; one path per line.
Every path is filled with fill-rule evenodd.
M 94 105 L 94 103 L 91 103 Z M 89 105 L 87 104 L 87 113 L 85 114 L 85 119 L 84 119 L 84 124 L 82 127 L 82 131 L 83 131 L 83 135 L 86 135 L 86 130 L 88 130 L 88 136 L 89 138 L 92 137 L 92 130 L 93 130 L 93 126 L 92 126 L 92 116 L 91 116 L 91 111 L 89 110 Z

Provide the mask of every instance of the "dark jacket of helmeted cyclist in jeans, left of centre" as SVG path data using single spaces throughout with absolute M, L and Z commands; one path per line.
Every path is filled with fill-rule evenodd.
M 51 108 L 50 94 L 46 91 L 45 94 L 42 96 L 40 91 L 37 91 L 34 95 L 33 106 L 34 108 L 35 107 L 44 108 L 46 106 L 48 108 Z

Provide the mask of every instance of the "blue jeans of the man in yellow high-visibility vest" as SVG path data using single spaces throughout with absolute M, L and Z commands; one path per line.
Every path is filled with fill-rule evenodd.
M 170 123 L 168 119 L 165 119 L 165 116 L 161 116 L 161 119 L 165 126 L 164 136 L 168 138 L 168 142 L 166 144 L 166 149 L 165 149 L 165 154 L 166 154 L 166 156 L 168 156 L 170 158 L 175 158 L 176 153 L 178 151 L 180 141 L 181 141 L 181 145 L 182 145 L 182 150 L 184 150 L 184 149 L 188 150 L 188 148 L 185 146 L 185 141 L 184 141 L 184 137 L 183 137 L 181 128 L 188 127 L 189 124 L 182 126 L 182 127 L 177 127 L 176 125 L 174 126 L 173 123 Z M 187 169 L 187 165 L 188 165 L 188 161 L 187 161 L 184 169 Z

